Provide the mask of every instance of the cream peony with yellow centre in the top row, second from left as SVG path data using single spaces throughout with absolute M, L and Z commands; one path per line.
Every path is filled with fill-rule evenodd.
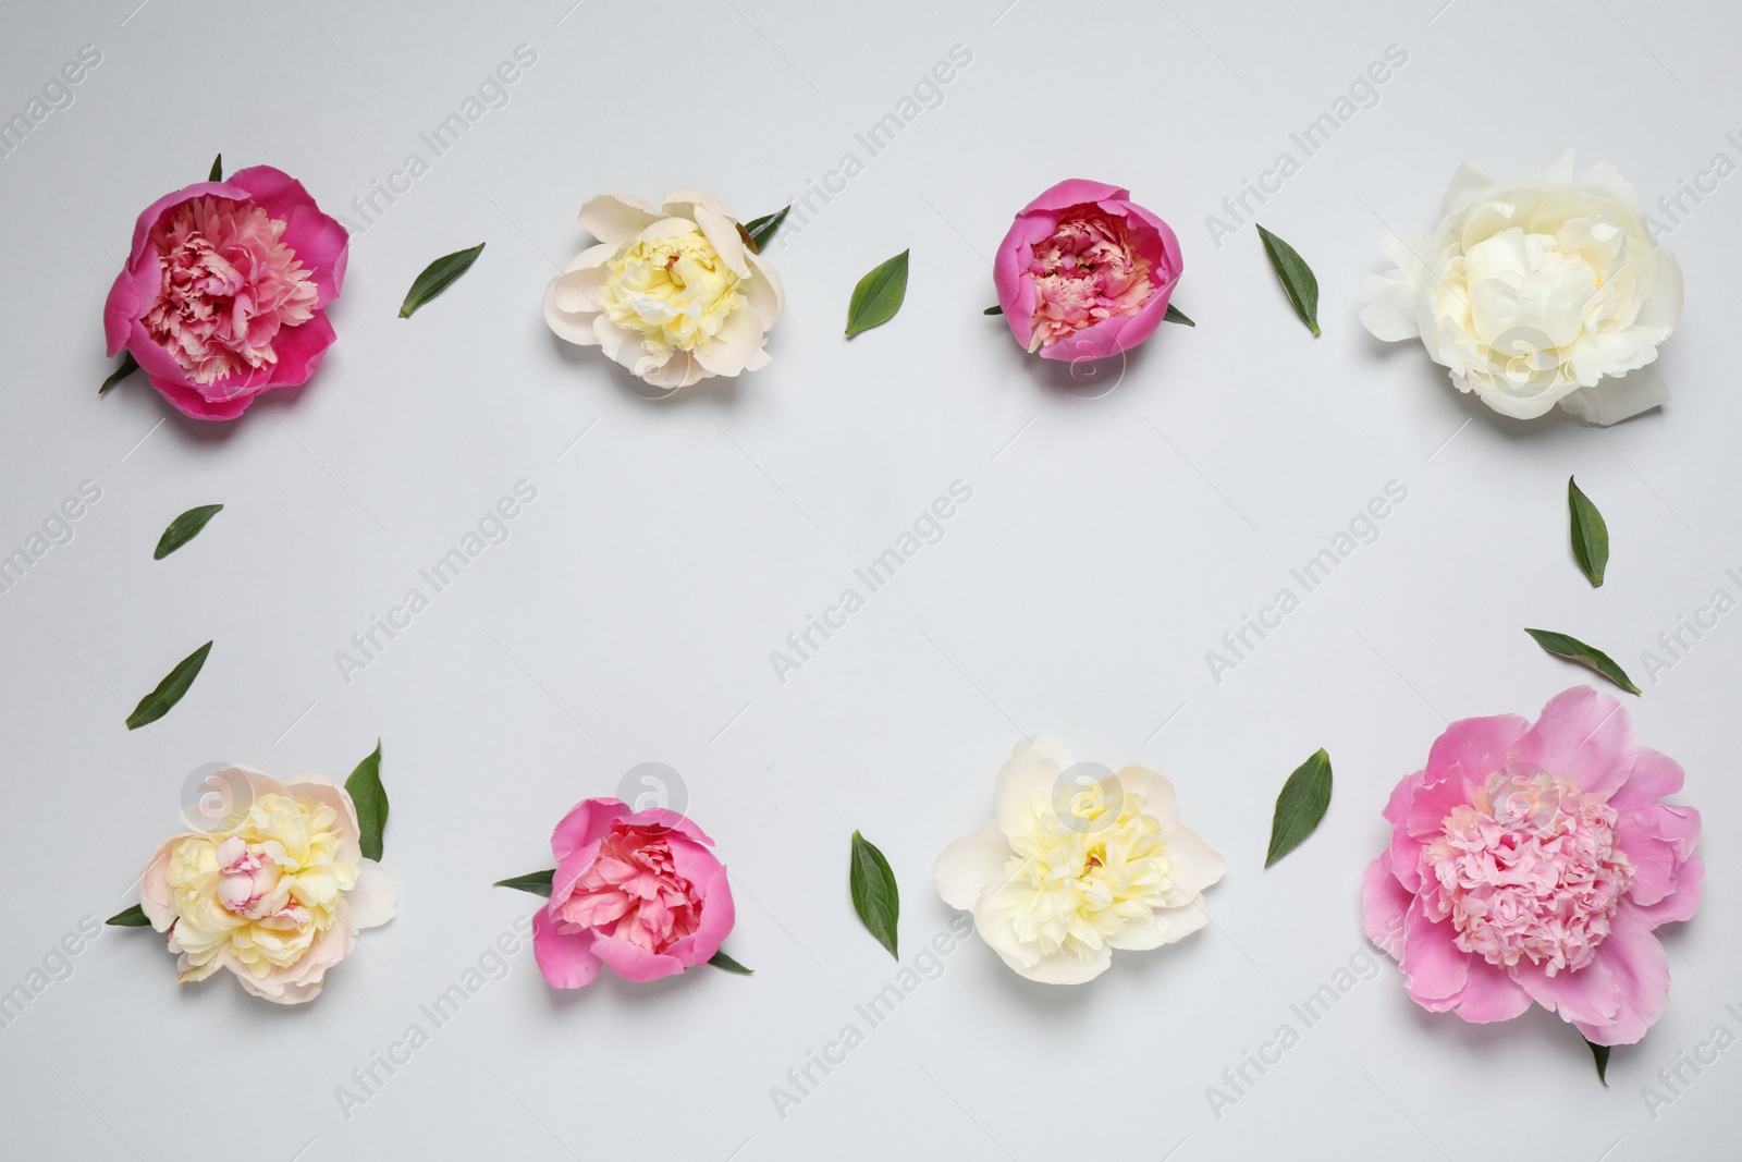
M 671 390 L 768 366 L 780 279 L 719 199 L 678 188 L 653 209 L 601 193 L 580 207 L 580 225 L 599 244 L 545 287 L 545 322 L 561 338 L 599 345 Z

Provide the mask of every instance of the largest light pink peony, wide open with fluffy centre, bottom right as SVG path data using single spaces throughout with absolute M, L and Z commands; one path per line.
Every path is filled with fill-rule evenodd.
M 1700 814 L 1658 801 L 1679 789 L 1681 767 L 1589 686 L 1535 725 L 1453 723 L 1385 807 L 1367 937 L 1423 1009 L 1505 1021 L 1535 1000 L 1592 1044 L 1632 1044 L 1669 1000 L 1651 930 L 1690 918 L 1705 878 Z

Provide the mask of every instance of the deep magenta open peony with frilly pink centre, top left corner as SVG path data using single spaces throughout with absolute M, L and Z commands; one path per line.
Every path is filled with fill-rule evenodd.
M 125 347 L 186 415 L 233 420 L 321 366 L 348 254 L 345 228 L 289 174 L 199 181 L 139 214 L 103 308 L 108 352 Z

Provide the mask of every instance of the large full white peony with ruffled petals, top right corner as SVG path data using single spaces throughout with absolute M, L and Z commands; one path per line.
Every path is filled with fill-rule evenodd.
M 1615 423 L 1669 399 L 1637 373 L 1681 319 L 1681 267 L 1651 240 L 1639 192 L 1613 166 L 1573 181 L 1573 150 L 1528 181 L 1465 164 L 1428 239 L 1380 240 L 1397 263 L 1361 280 L 1361 322 L 1385 341 L 1420 338 L 1458 390 L 1533 420 L 1556 402 Z M 1627 378 L 1622 378 L 1627 376 Z

